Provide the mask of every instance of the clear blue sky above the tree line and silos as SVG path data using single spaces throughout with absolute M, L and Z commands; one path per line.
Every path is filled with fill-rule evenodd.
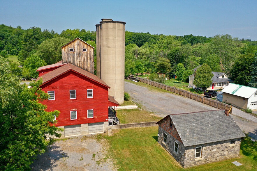
M 1 0 L 0 24 L 37 26 L 61 33 L 95 31 L 102 18 L 126 22 L 126 30 L 165 35 L 200 35 L 257 40 L 257 1 L 17 1 Z

